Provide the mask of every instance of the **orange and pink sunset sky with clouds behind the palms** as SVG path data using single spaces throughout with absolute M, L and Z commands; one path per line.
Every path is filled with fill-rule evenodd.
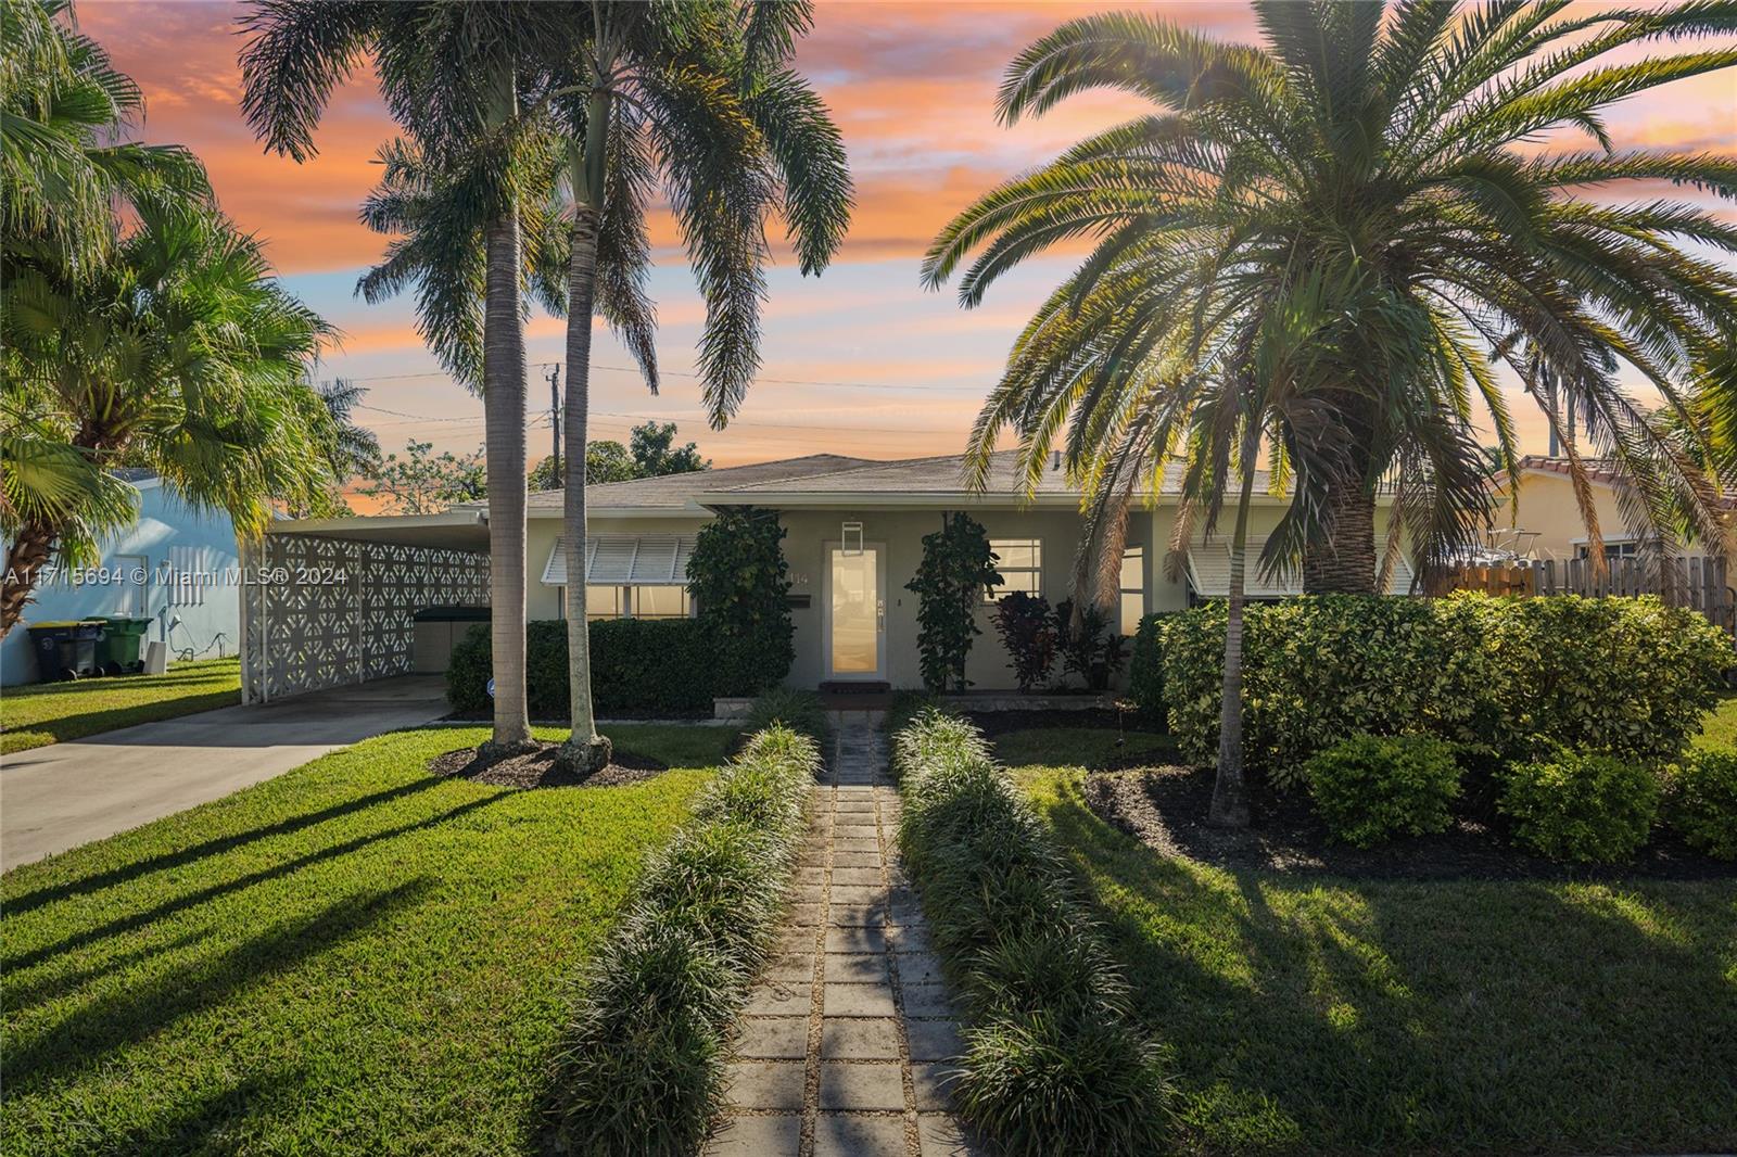
M 604 337 L 592 374 L 594 436 L 625 441 L 639 420 L 674 420 L 719 466 L 822 450 L 957 452 L 1014 334 L 1068 261 L 1028 264 L 973 311 L 950 292 L 922 290 L 917 261 L 936 229 L 994 182 L 1145 111 L 1129 97 L 1089 97 L 1014 129 L 994 120 L 1007 61 L 1060 21 L 1098 7 L 1136 5 L 822 3 L 797 66 L 832 106 L 851 156 L 856 212 L 839 259 L 820 280 L 801 278 L 789 259 L 771 271 L 763 377 L 730 429 L 709 431 L 697 384 L 683 375 L 693 365 L 700 302 L 679 250 L 660 248 L 653 295 L 664 391 L 650 396 L 625 368 L 627 354 Z M 1256 36 L 1240 3 L 1148 7 L 1214 36 Z M 370 160 L 394 132 L 372 75 L 360 69 L 335 94 L 316 136 L 320 156 L 304 165 L 267 156 L 238 111 L 240 10 L 83 0 L 78 21 L 142 85 L 141 136 L 198 153 L 224 208 L 266 240 L 285 283 L 342 330 L 321 375 L 368 387 L 370 408 L 360 417 L 382 445 L 394 450 L 415 438 L 474 450 L 481 403 L 422 347 L 412 301 L 368 306 L 354 295 L 358 274 L 386 245 L 356 219 L 377 174 Z M 1610 130 L 1619 146 L 1737 151 L 1737 75 L 1680 82 L 1617 106 Z M 662 222 L 655 236 L 669 241 L 674 231 Z M 540 380 L 547 365 L 537 363 L 559 358 L 561 327 L 538 316 L 528 328 L 533 408 L 549 405 Z M 1542 450 L 1542 420 L 1529 405 L 1516 415 L 1523 448 Z M 528 422 L 535 460 L 549 448 L 547 413 Z

